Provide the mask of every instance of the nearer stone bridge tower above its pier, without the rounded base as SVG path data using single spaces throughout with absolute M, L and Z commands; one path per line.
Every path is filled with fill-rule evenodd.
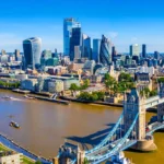
M 134 127 L 134 137 L 137 140 L 143 140 L 145 138 L 145 108 L 144 97 L 141 97 L 136 87 L 130 93 L 125 95 L 124 102 L 124 124 L 125 132 L 128 131 L 137 114 L 139 119 Z

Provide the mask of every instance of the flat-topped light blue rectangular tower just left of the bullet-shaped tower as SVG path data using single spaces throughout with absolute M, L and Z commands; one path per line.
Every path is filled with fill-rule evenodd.
M 99 63 L 99 52 L 101 52 L 101 39 L 93 39 L 93 51 L 92 51 L 92 60 Z

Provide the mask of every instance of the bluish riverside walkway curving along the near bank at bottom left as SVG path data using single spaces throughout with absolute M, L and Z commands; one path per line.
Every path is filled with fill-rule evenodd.
M 9 148 L 17 153 L 22 153 L 24 156 L 26 156 L 33 161 L 40 161 L 43 164 L 51 164 L 50 161 L 31 153 L 30 151 L 19 147 L 12 140 L 8 139 L 7 137 L 4 137 L 2 134 L 0 134 L 0 143 L 2 143 L 7 148 Z

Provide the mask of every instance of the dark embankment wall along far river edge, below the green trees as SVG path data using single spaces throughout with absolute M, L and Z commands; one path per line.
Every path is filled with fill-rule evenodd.
M 75 102 L 75 103 L 83 103 L 83 104 L 94 104 L 94 105 L 122 107 L 122 104 L 114 104 L 114 103 L 106 103 L 106 102 L 89 102 L 89 101 L 81 101 L 81 99 L 77 99 L 77 98 L 66 97 L 66 96 L 60 96 L 59 98 L 70 101 L 70 102 Z

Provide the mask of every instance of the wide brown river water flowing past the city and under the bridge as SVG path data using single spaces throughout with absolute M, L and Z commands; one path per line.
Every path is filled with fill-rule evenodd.
M 0 91 L 1 96 L 12 96 L 13 101 L 0 98 L 0 132 L 16 143 L 45 157 L 57 155 L 65 139 L 95 144 L 107 134 L 116 122 L 121 108 L 71 103 L 69 106 L 25 99 L 22 95 Z M 148 113 L 149 119 L 153 114 Z M 21 129 L 9 122 L 14 120 Z M 154 134 L 157 151 L 152 153 L 126 152 L 136 164 L 164 163 L 164 133 Z M 86 144 L 82 144 L 84 148 Z

